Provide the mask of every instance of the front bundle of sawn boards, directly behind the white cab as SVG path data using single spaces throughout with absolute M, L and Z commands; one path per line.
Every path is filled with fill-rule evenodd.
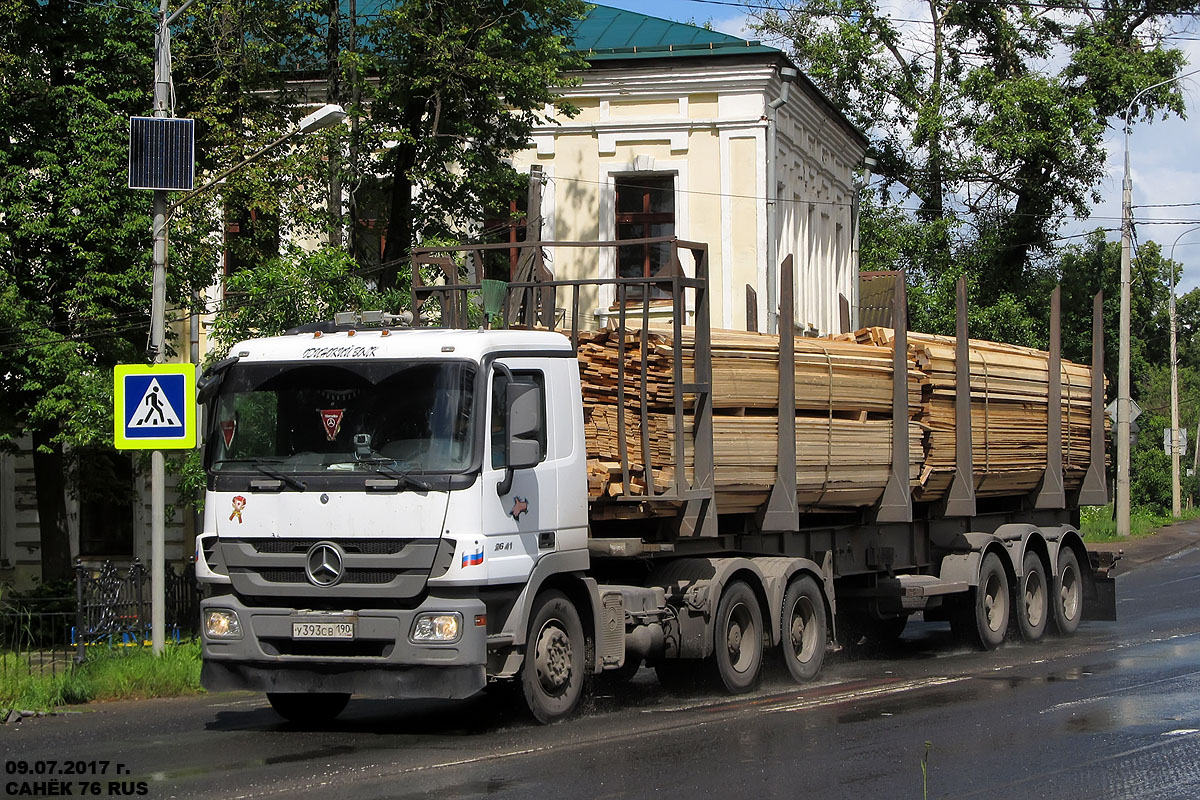
M 668 332 L 646 333 L 646 425 L 654 492 L 672 488 L 676 463 L 673 353 Z M 588 479 L 593 498 L 626 492 L 618 435 L 618 333 L 582 333 L 578 359 L 583 384 Z M 695 341 L 680 342 L 682 378 L 694 381 Z M 625 449 L 630 494 L 646 494 L 642 456 L 642 333 L 625 332 Z M 752 511 L 775 482 L 779 339 L 761 333 L 714 331 L 713 445 L 718 507 Z M 830 339 L 796 339 L 797 493 L 806 506 L 874 505 L 892 469 L 892 351 Z M 910 363 L 913 419 L 908 446 L 913 486 L 920 479 L 926 431 L 916 419 L 924 375 Z M 690 395 L 684 395 L 685 475 L 691 476 Z

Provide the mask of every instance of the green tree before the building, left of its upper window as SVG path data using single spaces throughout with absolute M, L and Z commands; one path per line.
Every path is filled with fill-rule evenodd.
M 379 285 L 396 285 L 418 240 L 458 237 L 522 181 L 506 158 L 527 146 L 556 86 L 583 68 L 568 34 L 580 0 L 398 0 L 370 25 L 360 174 L 386 176 Z M 385 146 L 386 145 L 386 146 Z M 419 191 L 418 191 L 419 187 Z

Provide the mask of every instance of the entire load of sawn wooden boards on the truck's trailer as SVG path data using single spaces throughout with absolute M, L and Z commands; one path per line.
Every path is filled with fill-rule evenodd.
M 580 335 L 588 485 L 594 500 L 674 488 L 677 351 L 683 384 L 694 383 L 690 329 L 678 343 L 672 342 L 670 330 L 644 335 L 626 330 L 624 408 L 618 411 L 619 336 L 611 329 Z M 944 495 L 954 470 L 954 339 L 910 333 L 908 343 L 910 483 L 914 500 L 930 501 Z M 775 482 L 779 341 L 762 333 L 713 331 L 712 360 L 718 509 L 721 513 L 754 511 Z M 1039 350 L 971 342 L 973 453 L 980 495 L 1026 493 L 1040 480 L 1046 457 L 1048 363 L 1048 354 Z M 838 511 L 875 505 L 892 469 L 892 331 L 797 337 L 794 374 L 802 507 Z M 1087 467 L 1091 369 L 1063 362 L 1062 387 L 1064 481 L 1068 488 L 1078 488 Z M 683 395 L 683 470 L 689 481 L 692 397 Z M 624 419 L 624 464 L 618 416 Z

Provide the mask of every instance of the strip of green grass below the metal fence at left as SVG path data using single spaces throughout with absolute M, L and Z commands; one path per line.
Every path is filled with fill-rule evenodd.
M 91 700 L 178 697 L 200 692 L 200 644 L 167 644 L 161 657 L 149 646 L 91 648 L 88 660 L 58 674 L 34 669 L 12 652 L 0 654 L 0 709 L 48 711 Z

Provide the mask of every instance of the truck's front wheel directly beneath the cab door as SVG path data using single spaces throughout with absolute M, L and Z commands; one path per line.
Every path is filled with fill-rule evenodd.
M 534 601 L 521 666 L 521 690 L 533 717 L 551 724 L 565 720 L 583 696 L 587 640 L 575 604 L 560 591 Z

